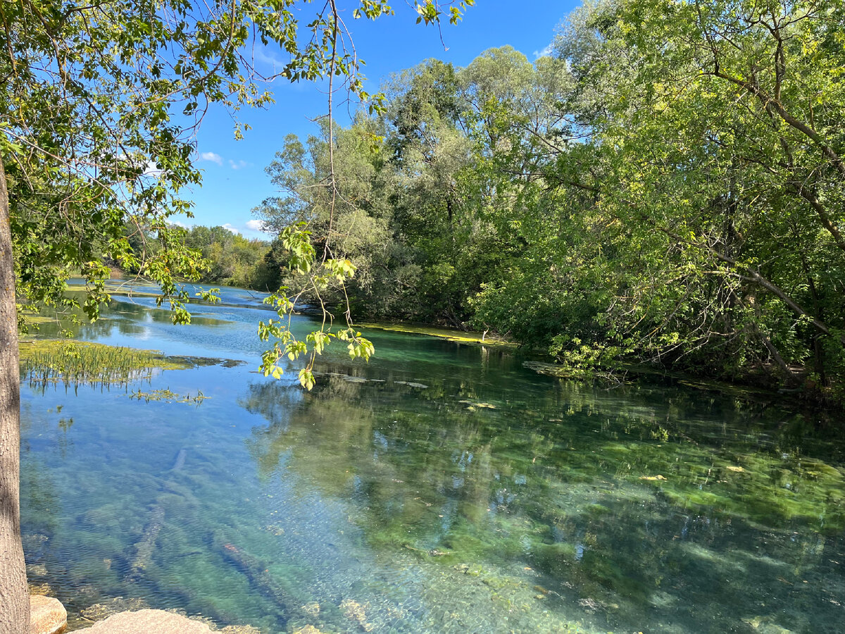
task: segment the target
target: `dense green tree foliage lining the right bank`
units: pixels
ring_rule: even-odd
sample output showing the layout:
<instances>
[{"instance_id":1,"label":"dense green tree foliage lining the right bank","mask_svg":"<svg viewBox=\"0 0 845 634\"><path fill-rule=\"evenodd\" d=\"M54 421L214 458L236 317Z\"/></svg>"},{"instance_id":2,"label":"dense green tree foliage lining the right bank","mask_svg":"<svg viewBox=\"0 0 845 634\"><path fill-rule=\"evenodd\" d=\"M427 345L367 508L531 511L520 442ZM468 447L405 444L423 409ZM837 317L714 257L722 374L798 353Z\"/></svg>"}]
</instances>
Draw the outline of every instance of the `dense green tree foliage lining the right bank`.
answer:
<instances>
[{"instance_id":1,"label":"dense green tree foliage lining the right bank","mask_svg":"<svg viewBox=\"0 0 845 634\"><path fill-rule=\"evenodd\" d=\"M318 250L330 227L354 314L836 396L842 18L832 0L588 3L552 56L428 60L378 117L288 138L257 213L308 223ZM324 211L330 158L349 234Z\"/></svg>"}]
</instances>

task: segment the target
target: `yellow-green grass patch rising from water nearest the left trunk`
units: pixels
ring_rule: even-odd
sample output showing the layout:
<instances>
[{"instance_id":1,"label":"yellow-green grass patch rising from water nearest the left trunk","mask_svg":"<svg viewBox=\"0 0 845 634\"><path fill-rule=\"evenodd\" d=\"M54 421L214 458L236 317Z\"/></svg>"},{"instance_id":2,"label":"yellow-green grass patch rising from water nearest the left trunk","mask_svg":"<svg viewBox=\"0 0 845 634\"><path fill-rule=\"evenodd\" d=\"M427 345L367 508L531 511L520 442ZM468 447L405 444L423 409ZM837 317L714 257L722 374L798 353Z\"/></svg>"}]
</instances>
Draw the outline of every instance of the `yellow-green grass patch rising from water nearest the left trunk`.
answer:
<instances>
[{"instance_id":1,"label":"yellow-green grass patch rising from water nearest the left trunk","mask_svg":"<svg viewBox=\"0 0 845 634\"><path fill-rule=\"evenodd\" d=\"M149 381L156 371L191 364L154 350L100 343L44 340L20 342L20 369L30 385L128 385Z\"/></svg>"}]
</instances>

